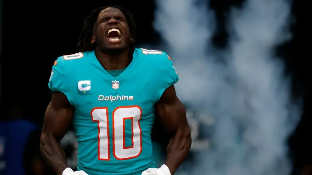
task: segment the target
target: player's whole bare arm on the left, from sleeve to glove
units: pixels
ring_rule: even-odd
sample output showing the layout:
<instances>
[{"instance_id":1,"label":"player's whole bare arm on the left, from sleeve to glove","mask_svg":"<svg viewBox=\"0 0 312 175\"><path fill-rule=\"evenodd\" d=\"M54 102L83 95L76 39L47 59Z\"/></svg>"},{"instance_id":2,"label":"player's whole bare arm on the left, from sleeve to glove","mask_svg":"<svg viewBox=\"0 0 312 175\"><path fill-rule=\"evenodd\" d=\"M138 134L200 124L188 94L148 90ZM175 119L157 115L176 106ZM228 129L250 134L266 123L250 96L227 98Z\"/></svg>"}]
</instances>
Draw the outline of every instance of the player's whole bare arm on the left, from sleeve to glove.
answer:
<instances>
[{"instance_id":1,"label":"player's whole bare arm on the left, from sleeve to glove","mask_svg":"<svg viewBox=\"0 0 312 175\"><path fill-rule=\"evenodd\" d=\"M71 124L73 111L74 107L63 93L53 92L52 100L46 108L40 137L40 151L46 163L58 175L68 167L60 140Z\"/></svg>"}]
</instances>

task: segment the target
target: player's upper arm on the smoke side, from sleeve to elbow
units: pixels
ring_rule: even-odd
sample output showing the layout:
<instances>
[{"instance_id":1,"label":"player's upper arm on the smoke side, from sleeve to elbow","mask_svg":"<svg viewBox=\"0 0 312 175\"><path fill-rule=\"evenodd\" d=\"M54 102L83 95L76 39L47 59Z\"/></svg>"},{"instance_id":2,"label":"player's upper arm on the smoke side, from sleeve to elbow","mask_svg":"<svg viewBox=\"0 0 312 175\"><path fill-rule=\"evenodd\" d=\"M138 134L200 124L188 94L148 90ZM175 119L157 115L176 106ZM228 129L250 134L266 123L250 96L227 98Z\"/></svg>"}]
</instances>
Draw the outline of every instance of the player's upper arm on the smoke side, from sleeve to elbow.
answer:
<instances>
[{"instance_id":1,"label":"player's upper arm on the smoke side, from sleeve to elbow","mask_svg":"<svg viewBox=\"0 0 312 175\"><path fill-rule=\"evenodd\" d=\"M155 104L156 112L168 134L174 134L179 128L188 128L183 103L176 95L174 86L168 87Z\"/></svg>"}]
</instances>

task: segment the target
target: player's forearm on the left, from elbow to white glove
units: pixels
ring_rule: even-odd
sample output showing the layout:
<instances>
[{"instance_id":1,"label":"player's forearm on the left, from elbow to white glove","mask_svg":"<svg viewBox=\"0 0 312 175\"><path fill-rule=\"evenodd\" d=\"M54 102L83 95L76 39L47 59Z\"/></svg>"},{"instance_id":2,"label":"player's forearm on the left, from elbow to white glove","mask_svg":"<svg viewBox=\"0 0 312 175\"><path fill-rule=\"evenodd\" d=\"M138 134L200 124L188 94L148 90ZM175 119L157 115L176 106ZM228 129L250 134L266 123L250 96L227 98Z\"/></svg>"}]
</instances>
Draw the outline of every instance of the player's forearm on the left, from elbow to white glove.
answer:
<instances>
[{"instance_id":1,"label":"player's forearm on the left, from elbow to white glove","mask_svg":"<svg viewBox=\"0 0 312 175\"><path fill-rule=\"evenodd\" d=\"M61 144L52 135L41 134L40 151L46 163L55 171L56 174L62 175L66 169L66 156Z\"/></svg>"}]
</instances>

